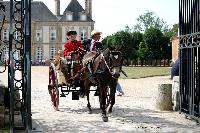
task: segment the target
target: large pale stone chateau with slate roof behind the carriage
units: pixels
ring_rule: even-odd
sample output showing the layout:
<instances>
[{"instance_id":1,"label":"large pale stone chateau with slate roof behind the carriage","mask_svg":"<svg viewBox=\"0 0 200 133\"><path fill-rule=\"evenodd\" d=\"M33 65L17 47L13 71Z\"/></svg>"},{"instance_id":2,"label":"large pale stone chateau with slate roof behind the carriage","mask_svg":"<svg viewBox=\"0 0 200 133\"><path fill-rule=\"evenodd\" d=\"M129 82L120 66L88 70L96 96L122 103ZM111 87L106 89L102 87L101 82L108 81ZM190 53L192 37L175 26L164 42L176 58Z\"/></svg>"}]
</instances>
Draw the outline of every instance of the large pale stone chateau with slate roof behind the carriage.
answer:
<instances>
[{"instance_id":1,"label":"large pale stone chateau with slate roof behind the carriage","mask_svg":"<svg viewBox=\"0 0 200 133\"><path fill-rule=\"evenodd\" d=\"M67 31L76 30L77 39L84 40L90 38L90 33L94 29L92 0L85 0L85 8L77 0L71 0L62 14L60 13L60 0L49 0L49 2L55 2L55 14L41 1L32 0L31 3L31 59L32 63L36 64L52 60L55 51L63 49L68 39ZM9 21L10 2L0 0L0 3L6 6L6 19ZM1 14L0 18L2 18ZM1 33L1 40L8 39L9 23L6 23ZM7 58L6 49L4 49L4 54ZM18 56L17 54L16 52L14 56Z\"/></svg>"}]
</instances>

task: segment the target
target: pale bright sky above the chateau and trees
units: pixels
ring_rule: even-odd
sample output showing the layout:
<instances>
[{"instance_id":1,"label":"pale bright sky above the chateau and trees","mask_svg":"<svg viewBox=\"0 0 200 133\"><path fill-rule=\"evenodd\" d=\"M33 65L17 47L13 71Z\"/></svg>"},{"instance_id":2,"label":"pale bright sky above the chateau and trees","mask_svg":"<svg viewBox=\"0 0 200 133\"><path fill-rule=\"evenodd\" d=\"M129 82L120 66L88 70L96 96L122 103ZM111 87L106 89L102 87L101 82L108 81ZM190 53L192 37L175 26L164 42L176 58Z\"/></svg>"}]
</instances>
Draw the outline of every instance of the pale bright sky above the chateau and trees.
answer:
<instances>
[{"instance_id":1,"label":"pale bright sky above the chateau and trees","mask_svg":"<svg viewBox=\"0 0 200 133\"><path fill-rule=\"evenodd\" d=\"M55 0L39 1L43 1L55 13ZM70 1L60 0L61 14ZM85 8L85 0L78 1ZM95 29L101 31L102 36L124 30L126 25L132 28L137 23L136 19L147 10L154 12L172 27L179 20L178 2L179 0L92 0L92 19L95 21Z\"/></svg>"}]
</instances>

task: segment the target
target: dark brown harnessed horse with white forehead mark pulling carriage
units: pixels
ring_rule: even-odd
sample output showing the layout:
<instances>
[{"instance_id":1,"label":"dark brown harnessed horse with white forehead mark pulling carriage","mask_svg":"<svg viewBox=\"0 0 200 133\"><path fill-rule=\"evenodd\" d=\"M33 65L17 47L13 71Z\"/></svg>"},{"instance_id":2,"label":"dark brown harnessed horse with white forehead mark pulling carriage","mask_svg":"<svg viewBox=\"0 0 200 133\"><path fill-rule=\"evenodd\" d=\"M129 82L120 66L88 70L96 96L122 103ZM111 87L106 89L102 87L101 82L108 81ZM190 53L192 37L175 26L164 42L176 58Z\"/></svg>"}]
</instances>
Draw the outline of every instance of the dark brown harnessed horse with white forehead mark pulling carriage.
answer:
<instances>
[{"instance_id":1,"label":"dark brown harnessed horse with white forehead mark pulling carriage","mask_svg":"<svg viewBox=\"0 0 200 133\"><path fill-rule=\"evenodd\" d=\"M85 93L87 96L87 107L92 112L90 101L89 101L89 90L92 84L96 84L99 88L99 102L100 109L102 113L102 119L104 122L108 121L108 113L112 112L112 107L115 104L115 92L118 78L120 72L122 71L123 56L121 51L115 47L109 46L104 51L100 52L98 57L94 60L93 69L94 69L94 79L96 83L93 83L93 79L89 78L88 67L85 67L86 78L84 80Z\"/></svg>"}]
</instances>

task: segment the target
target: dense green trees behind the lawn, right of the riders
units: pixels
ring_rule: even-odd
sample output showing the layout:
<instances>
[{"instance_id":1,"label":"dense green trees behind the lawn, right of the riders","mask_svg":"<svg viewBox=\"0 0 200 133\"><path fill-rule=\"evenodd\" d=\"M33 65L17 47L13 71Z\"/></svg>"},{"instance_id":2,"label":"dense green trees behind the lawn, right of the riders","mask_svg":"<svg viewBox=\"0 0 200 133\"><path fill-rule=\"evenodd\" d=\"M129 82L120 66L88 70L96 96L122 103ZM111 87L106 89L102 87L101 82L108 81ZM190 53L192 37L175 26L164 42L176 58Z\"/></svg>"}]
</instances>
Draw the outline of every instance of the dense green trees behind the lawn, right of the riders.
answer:
<instances>
[{"instance_id":1,"label":"dense green trees behind the lawn, right of the riders","mask_svg":"<svg viewBox=\"0 0 200 133\"><path fill-rule=\"evenodd\" d=\"M171 29L153 12L147 11L140 15L137 24L131 29L128 25L124 30L103 39L104 47L109 44L122 49L125 60L140 59L171 59L170 39L178 32L178 24Z\"/></svg>"}]
</instances>

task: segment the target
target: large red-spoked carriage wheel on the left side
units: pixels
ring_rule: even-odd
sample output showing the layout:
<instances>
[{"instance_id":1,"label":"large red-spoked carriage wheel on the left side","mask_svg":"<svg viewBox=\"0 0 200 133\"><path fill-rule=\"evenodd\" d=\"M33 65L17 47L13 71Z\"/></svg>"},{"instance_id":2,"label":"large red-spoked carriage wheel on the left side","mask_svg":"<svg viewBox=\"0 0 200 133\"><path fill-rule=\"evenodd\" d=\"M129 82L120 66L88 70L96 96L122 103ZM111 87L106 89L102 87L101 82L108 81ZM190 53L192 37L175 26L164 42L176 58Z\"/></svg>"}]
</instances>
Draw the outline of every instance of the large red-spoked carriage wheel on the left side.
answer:
<instances>
[{"instance_id":1,"label":"large red-spoked carriage wheel on the left side","mask_svg":"<svg viewBox=\"0 0 200 133\"><path fill-rule=\"evenodd\" d=\"M48 91L51 96L52 105L55 110L58 111L58 105L59 105L59 90L58 90L58 82L57 82L57 76L56 76L56 70L53 63L49 66L49 85L48 85Z\"/></svg>"}]
</instances>

